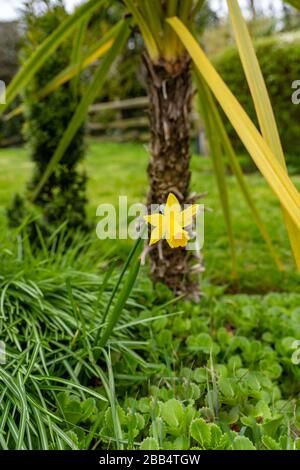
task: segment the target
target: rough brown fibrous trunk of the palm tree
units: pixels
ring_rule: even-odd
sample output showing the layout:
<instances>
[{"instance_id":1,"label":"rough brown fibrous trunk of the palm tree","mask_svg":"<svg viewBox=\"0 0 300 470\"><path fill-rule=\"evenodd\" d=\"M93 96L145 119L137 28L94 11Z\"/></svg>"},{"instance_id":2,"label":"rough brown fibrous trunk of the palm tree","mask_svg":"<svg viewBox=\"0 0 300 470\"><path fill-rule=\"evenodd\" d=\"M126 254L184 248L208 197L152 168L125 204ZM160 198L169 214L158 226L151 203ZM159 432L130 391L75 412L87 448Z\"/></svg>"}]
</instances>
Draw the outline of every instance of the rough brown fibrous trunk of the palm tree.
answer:
<instances>
[{"instance_id":1,"label":"rough brown fibrous trunk of the palm tree","mask_svg":"<svg viewBox=\"0 0 300 470\"><path fill-rule=\"evenodd\" d=\"M153 64L145 56L150 99L150 190L148 206L163 204L173 192L181 204L189 199L190 113L193 96L188 58L176 64ZM199 297L199 274L192 274L193 253L171 249L163 241L150 251L154 281L177 294Z\"/></svg>"}]
</instances>

